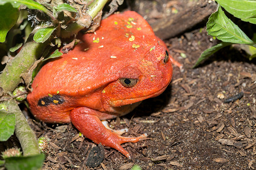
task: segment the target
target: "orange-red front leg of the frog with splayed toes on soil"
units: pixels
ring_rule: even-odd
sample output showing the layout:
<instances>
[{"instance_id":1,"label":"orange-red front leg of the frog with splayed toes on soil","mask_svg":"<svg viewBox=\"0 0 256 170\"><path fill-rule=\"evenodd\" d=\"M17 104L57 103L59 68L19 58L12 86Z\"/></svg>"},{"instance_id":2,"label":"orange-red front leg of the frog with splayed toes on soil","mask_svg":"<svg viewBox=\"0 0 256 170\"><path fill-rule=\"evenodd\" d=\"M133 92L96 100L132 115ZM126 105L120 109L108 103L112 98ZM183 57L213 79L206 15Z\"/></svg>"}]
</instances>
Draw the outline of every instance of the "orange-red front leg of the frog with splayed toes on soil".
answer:
<instances>
[{"instance_id":1,"label":"orange-red front leg of the frog with splayed toes on soil","mask_svg":"<svg viewBox=\"0 0 256 170\"><path fill-rule=\"evenodd\" d=\"M95 143L115 148L127 158L130 154L121 146L126 142L138 142L147 137L143 134L139 137L122 137L113 130L107 129L101 122L102 113L89 108L75 108L70 113L71 122L76 128Z\"/></svg>"}]
</instances>

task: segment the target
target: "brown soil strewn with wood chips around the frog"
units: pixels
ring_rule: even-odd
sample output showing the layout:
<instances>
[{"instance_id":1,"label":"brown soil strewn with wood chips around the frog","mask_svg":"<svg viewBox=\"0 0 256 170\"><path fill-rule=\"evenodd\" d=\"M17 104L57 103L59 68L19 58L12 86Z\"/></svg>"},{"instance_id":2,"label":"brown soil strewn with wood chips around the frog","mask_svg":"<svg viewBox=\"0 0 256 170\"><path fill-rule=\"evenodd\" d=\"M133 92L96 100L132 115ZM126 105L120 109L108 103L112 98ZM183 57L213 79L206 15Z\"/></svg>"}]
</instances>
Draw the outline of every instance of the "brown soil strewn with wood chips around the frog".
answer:
<instances>
[{"instance_id":1,"label":"brown soil strewn with wood chips around the frog","mask_svg":"<svg viewBox=\"0 0 256 170\"><path fill-rule=\"evenodd\" d=\"M128 8L154 22L191 4L138 1L137 8ZM43 169L130 169L135 164L142 169L256 168L255 59L249 61L242 50L228 47L192 69L201 52L217 44L204 26L165 42L183 69L174 66L172 82L162 95L143 101L124 117L109 120L114 129L129 128L124 136L149 134L141 142L122 145L132 159L113 148L97 147L80 137L72 124L46 125L28 118L37 137L49 139ZM224 103L240 92L240 100ZM105 156L101 164L89 168L86 162L92 159L88 158L92 146Z\"/></svg>"}]
</instances>

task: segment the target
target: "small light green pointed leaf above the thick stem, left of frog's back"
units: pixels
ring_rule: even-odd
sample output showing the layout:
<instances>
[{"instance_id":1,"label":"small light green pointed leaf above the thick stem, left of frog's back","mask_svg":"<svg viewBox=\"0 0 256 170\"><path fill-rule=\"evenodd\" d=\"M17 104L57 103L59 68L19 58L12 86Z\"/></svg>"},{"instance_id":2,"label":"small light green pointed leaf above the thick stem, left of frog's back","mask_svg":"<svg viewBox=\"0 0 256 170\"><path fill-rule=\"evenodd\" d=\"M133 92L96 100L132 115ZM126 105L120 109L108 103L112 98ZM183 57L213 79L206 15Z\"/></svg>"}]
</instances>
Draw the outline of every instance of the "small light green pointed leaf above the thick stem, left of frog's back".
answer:
<instances>
[{"instance_id":1,"label":"small light green pointed leaf above the thick stem, left of frog's back","mask_svg":"<svg viewBox=\"0 0 256 170\"><path fill-rule=\"evenodd\" d=\"M41 28L39 29L33 39L36 42L44 42L46 40L48 40L49 36L51 36L52 32L55 30L55 27L47 27L47 28Z\"/></svg>"}]
</instances>

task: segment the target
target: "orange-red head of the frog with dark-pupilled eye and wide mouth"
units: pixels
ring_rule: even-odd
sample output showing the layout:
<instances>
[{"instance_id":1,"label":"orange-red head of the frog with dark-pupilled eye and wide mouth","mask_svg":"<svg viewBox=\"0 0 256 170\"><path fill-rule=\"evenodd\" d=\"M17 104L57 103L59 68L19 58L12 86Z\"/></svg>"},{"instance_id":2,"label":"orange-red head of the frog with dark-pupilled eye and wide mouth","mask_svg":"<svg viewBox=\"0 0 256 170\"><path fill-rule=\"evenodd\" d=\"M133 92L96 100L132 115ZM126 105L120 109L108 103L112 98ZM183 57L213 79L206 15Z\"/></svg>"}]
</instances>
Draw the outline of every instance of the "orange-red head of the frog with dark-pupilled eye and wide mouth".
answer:
<instances>
[{"instance_id":1,"label":"orange-red head of the frog with dark-pupilled eye and wide mouth","mask_svg":"<svg viewBox=\"0 0 256 170\"><path fill-rule=\"evenodd\" d=\"M102 91L106 111L126 114L142 100L162 94L172 78L169 55L163 46L152 46L143 57L122 67L118 79Z\"/></svg>"}]
</instances>

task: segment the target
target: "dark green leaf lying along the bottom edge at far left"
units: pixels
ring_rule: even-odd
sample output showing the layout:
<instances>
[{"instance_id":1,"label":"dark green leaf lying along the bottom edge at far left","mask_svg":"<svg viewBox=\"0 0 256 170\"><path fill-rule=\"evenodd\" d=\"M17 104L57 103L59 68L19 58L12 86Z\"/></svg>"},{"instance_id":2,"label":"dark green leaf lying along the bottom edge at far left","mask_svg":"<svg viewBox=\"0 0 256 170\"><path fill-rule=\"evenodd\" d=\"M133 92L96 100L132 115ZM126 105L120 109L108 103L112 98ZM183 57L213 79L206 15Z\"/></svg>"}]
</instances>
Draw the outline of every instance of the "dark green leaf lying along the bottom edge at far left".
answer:
<instances>
[{"instance_id":1,"label":"dark green leaf lying along the bottom edge at far left","mask_svg":"<svg viewBox=\"0 0 256 170\"><path fill-rule=\"evenodd\" d=\"M5 167L8 170L31 169L38 170L42 168L44 162L44 154L10 157L5 159Z\"/></svg>"}]
</instances>

